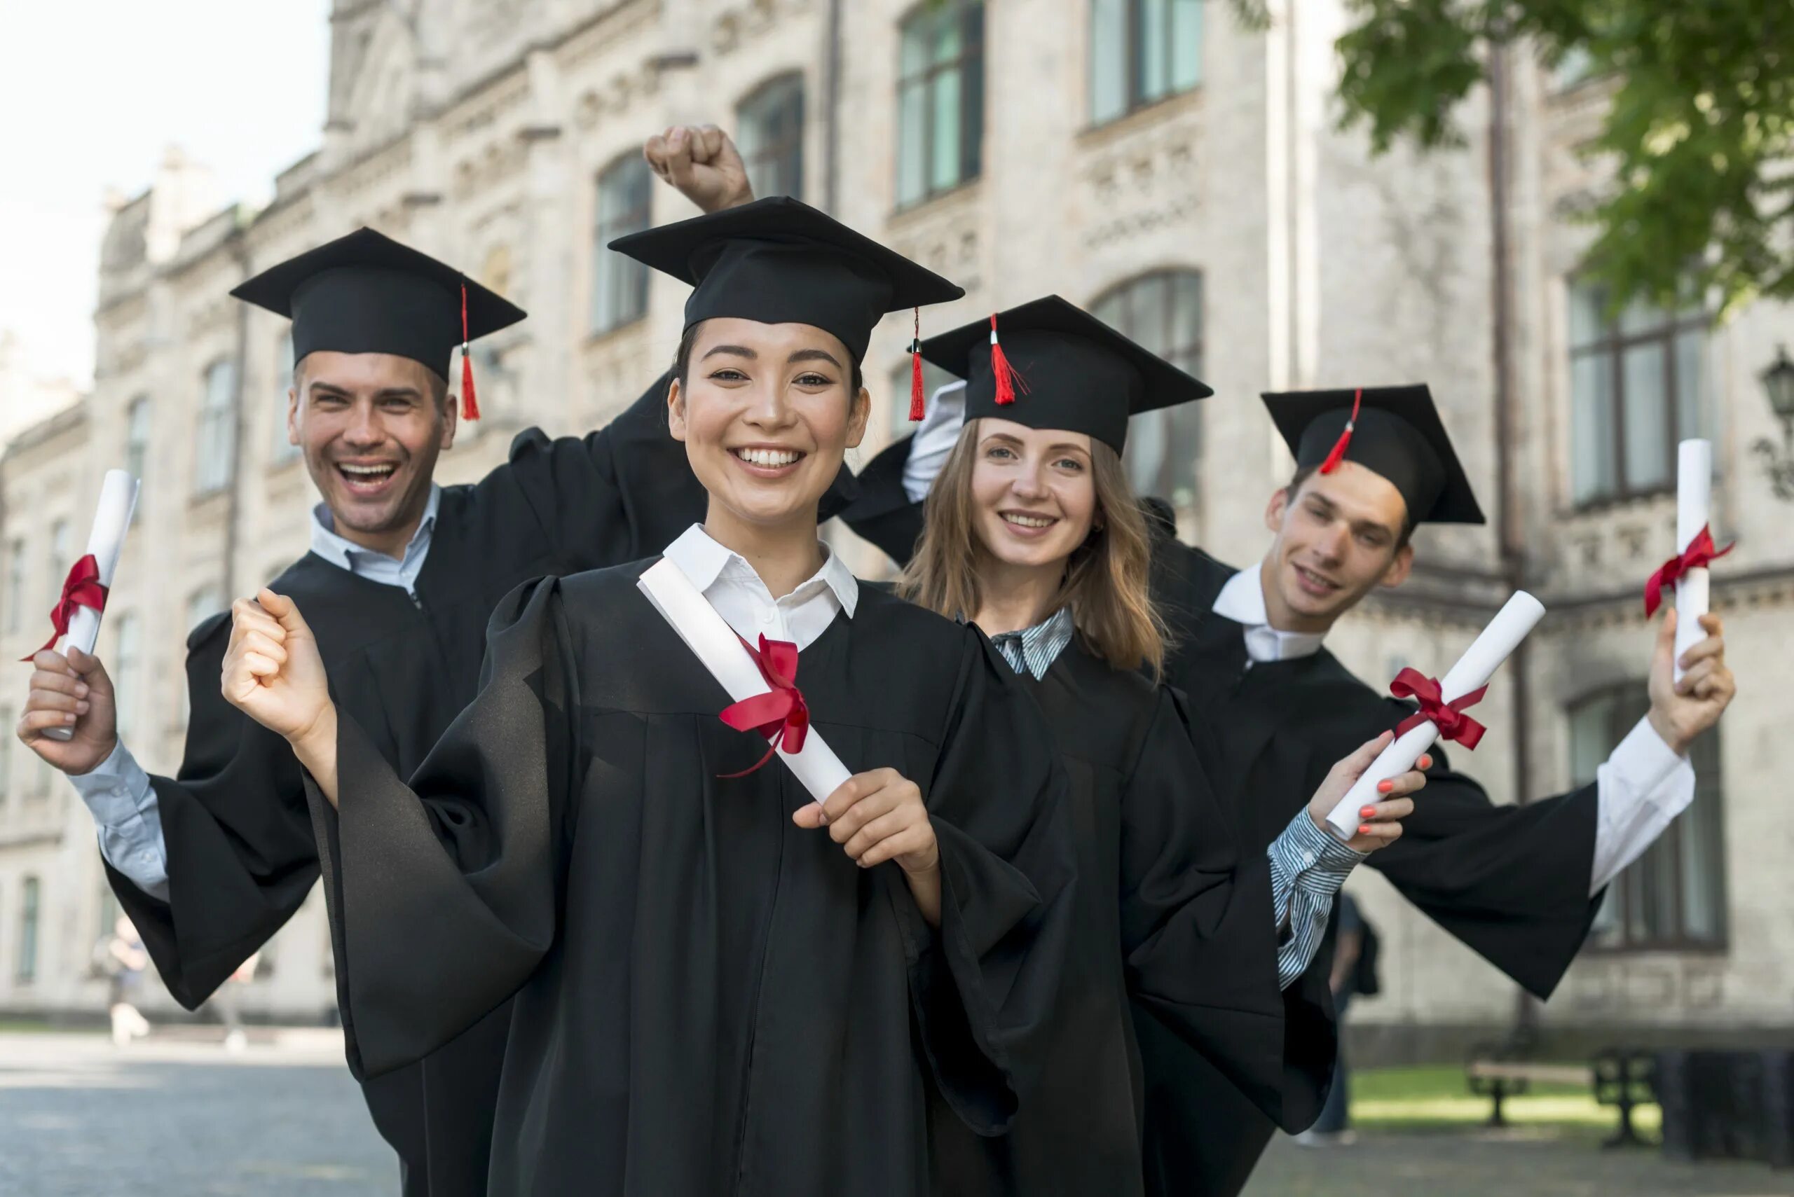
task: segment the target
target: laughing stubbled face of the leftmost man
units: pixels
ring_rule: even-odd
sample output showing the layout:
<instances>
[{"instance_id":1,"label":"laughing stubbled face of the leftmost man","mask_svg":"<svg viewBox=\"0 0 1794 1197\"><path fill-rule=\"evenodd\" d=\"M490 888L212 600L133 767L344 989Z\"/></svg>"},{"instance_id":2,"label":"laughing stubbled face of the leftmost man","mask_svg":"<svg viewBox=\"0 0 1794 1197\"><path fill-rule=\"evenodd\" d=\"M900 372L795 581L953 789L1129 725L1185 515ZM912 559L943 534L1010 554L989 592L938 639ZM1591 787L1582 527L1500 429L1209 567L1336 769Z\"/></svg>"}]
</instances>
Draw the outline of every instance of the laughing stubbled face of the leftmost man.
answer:
<instances>
[{"instance_id":1,"label":"laughing stubbled face of the leftmost man","mask_svg":"<svg viewBox=\"0 0 1794 1197\"><path fill-rule=\"evenodd\" d=\"M391 353L305 355L287 392L287 439L339 536L402 548L429 504L436 457L454 444L447 383Z\"/></svg>"}]
</instances>

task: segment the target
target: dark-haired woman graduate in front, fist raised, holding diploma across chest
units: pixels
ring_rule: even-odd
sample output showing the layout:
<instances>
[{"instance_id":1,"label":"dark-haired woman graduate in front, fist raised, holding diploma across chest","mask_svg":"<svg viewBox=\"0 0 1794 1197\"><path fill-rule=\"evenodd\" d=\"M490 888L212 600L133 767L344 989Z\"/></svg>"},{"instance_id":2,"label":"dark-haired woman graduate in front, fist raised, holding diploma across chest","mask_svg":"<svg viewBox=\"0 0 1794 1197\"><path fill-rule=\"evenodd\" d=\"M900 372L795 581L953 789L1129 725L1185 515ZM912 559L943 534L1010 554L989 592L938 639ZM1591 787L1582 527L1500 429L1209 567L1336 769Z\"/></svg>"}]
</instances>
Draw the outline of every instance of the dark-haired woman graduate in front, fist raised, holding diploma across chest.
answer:
<instances>
[{"instance_id":1,"label":"dark-haired woman graduate in front, fist raised, holding diploma across chest","mask_svg":"<svg viewBox=\"0 0 1794 1197\"><path fill-rule=\"evenodd\" d=\"M667 410L703 523L513 591L409 779L278 595L224 693L307 769L366 1068L515 995L492 1193L922 1193L929 1102L997 1134L1039 1073L1073 903L1014 670L816 538L872 326L960 288L791 199L614 247L694 285Z\"/></svg>"}]
</instances>

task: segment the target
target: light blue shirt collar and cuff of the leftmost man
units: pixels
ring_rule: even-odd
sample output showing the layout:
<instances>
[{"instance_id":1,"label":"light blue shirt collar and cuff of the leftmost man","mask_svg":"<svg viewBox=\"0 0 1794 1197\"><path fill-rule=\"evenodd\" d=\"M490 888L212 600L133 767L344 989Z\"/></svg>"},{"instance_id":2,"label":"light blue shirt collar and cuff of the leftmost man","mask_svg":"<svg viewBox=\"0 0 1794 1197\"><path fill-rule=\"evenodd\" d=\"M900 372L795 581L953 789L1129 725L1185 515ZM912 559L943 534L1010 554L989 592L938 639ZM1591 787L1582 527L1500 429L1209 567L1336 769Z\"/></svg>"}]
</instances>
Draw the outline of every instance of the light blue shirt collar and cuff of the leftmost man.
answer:
<instances>
[{"instance_id":1,"label":"light blue shirt collar and cuff of the leftmost man","mask_svg":"<svg viewBox=\"0 0 1794 1197\"><path fill-rule=\"evenodd\" d=\"M405 543L405 552L389 557L337 536L330 507L312 507L312 552L357 577L382 586L402 586L416 593L418 573L431 554L431 536L436 532L436 511L443 489L431 486L418 530ZM161 901L169 900L169 844L161 835L161 812L156 806L156 787L149 774L131 756L124 740L113 747L91 772L70 776L81 801L93 814L99 828L100 857L122 873L133 885Z\"/></svg>"}]
</instances>

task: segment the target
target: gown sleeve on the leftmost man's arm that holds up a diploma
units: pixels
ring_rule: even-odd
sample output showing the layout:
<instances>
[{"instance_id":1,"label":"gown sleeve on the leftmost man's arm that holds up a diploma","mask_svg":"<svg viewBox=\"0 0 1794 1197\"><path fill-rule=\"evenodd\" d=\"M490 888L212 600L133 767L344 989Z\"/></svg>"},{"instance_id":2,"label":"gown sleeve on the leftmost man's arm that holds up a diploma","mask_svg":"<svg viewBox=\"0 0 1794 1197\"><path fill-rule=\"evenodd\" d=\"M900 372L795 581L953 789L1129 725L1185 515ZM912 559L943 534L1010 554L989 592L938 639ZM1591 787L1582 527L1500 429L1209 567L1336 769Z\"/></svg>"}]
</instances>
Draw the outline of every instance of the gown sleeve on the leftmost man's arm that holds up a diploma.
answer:
<instances>
[{"instance_id":1,"label":"gown sleeve on the leftmost man's arm that holds up a diploma","mask_svg":"<svg viewBox=\"0 0 1794 1197\"><path fill-rule=\"evenodd\" d=\"M192 713L174 778L151 776L167 848L169 898L106 865L174 1000L197 1009L280 930L318 880L318 849L292 749L219 692L230 616L194 629Z\"/></svg>"}]
</instances>

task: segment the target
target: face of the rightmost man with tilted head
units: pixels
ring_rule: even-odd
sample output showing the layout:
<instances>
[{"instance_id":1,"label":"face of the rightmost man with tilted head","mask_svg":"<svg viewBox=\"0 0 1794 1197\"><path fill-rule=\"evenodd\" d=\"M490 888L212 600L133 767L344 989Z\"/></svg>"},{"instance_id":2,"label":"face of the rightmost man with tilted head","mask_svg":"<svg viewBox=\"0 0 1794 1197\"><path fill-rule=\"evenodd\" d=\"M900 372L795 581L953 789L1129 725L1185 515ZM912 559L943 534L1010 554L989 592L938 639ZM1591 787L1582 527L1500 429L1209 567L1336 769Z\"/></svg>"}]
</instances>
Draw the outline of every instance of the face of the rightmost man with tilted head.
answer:
<instances>
[{"instance_id":1,"label":"face of the rightmost man with tilted head","mask_svg":"<svg viewBox=\"0 0 1794 1197\"><path fill-rule=\"evenodd\" d=\"M1405 582L1414 566L1406 516L1401 491L1351 461L1272 495L1265 523L1277 538L1263 568L1272 627L1324 633L1378 586Z\"/></svg>"}]
</instances>

